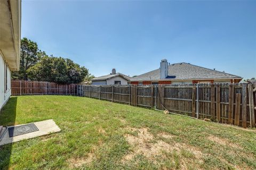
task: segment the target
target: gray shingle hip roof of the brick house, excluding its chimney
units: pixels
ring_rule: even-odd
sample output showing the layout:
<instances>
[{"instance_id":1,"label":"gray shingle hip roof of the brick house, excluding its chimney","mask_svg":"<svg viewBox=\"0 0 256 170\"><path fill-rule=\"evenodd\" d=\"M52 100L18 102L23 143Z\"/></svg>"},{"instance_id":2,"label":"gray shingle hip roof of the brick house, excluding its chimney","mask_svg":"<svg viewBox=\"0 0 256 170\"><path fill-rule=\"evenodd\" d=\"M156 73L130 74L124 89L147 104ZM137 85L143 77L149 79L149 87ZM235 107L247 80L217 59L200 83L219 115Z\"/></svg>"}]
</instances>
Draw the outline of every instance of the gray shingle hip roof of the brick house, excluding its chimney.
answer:
<instances>
[{"instance_id":1,"label":"gray shingle hip roof of the brick house, excluding its chimney","mask_svg":"<svg viewBox=\"0 0 256 170\"><path fill-rule=\"evenodd\" d=\"M167 79L160 78L160 69L150 71L145 74L138 75L131 81L143 80L200 80L200 79L242 79L237 75L232 75L216 70L206 69L201 66L192 65L189 63L175 63L168 66Z\"/></svg>"}]
</instances>

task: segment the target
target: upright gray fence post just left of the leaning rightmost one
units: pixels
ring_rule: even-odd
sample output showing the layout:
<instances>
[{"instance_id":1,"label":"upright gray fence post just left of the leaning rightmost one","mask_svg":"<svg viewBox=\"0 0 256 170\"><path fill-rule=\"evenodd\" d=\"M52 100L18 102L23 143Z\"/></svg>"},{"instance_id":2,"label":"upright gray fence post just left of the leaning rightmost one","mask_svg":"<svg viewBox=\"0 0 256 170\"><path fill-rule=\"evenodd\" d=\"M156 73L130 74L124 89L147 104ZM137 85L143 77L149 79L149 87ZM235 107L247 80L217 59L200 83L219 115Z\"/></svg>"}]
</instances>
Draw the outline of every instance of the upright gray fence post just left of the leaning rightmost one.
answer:
<instances>
[{"instance_id":1,"label":"upright gray fence post just left of the leaning rightmost one","mask_svg":"<svg viewBox=\"0 0 256 170\"><path fill-rule=\"evenodd\" d=\"M247 115L246 115L246 104L247 104L247 95L246 95L246 87L247 84L246 83L243 83L243 86L242 86L242 127L243 128L246 128L247 126Z\"/></svg>"}]
</instances>

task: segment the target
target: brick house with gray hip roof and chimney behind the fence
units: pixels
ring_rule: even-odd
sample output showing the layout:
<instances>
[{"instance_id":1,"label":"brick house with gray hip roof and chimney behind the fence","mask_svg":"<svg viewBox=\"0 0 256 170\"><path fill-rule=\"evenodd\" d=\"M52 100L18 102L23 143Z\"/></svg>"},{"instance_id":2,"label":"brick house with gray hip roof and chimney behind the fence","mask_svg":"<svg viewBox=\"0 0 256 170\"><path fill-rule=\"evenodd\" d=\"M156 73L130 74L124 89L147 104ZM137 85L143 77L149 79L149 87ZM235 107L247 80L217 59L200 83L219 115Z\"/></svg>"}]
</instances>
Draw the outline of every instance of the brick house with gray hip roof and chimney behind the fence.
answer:
<instances>
[{"instance_id":1,"label":"brick house with gray hip roof and chimney behind the fence","mask_svg":"<svg viewBox=\"0 0 256 170\"><path fill-rule=\"evenodd\" d=\"M189 63L168 64L162 60L160 68L131 79L131 84L190 84L190 83L238 83L242 78L206 69Z\"/></svg>"}]
</instances>

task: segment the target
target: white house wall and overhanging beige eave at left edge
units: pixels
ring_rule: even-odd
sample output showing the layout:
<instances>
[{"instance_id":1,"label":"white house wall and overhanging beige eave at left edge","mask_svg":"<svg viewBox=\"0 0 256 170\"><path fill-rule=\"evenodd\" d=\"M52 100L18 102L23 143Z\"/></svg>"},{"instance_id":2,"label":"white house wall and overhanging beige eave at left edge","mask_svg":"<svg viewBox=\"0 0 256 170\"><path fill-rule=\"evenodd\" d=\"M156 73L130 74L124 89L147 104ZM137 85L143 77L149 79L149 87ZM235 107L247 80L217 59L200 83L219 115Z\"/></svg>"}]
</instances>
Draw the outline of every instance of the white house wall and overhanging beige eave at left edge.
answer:
<instances>
[{"instance_id":1,"label":"white house wall and overhanging beige eave at left edge","mask_svg":"<svg viewBox=\"0 0 256 170\"><path fill-rule=\"evenodd\" d=\"M11 71L20 67L21 1L0 1L0 109L11 96Z\"/></svg>"}]
</instances>

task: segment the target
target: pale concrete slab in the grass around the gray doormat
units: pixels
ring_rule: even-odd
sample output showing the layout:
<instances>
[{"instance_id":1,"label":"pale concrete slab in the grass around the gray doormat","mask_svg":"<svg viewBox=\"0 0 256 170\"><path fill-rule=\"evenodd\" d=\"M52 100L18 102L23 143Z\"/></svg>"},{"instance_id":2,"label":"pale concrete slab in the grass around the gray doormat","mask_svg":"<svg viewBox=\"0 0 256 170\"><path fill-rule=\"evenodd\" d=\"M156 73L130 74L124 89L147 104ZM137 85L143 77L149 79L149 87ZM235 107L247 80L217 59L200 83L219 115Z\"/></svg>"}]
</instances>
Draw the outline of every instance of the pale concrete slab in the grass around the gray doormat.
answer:
<instances>
[{"instance_id":1,"label":"pale concrete slab in the grass around the gray doormat","mask_svg":"<svg viewBox=\"0 0 256 170\"><path fill-rule=\"evenodd\" d=\"M31 138L35 138L35 137L40 137L42 135L61 131L59 126L57 126L53 120L34 122L34 124L37 126L39 131L22 134L22 135L18 135L18 136L11 137L11 138L9 137L9 132L7 131L5 133L2 141L0 141L0 146L6 145L8 143L18 142L18 141L21 141L24 139L31 139ZM13 127L13 126L9 126L9 128L11 128L11 127Z\"/></svg>"}]
</instances>

